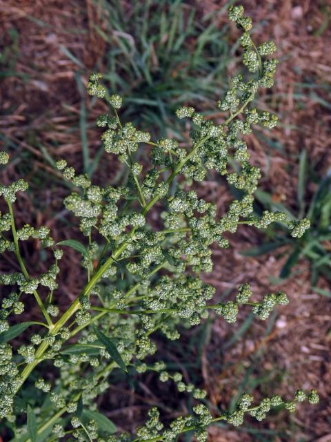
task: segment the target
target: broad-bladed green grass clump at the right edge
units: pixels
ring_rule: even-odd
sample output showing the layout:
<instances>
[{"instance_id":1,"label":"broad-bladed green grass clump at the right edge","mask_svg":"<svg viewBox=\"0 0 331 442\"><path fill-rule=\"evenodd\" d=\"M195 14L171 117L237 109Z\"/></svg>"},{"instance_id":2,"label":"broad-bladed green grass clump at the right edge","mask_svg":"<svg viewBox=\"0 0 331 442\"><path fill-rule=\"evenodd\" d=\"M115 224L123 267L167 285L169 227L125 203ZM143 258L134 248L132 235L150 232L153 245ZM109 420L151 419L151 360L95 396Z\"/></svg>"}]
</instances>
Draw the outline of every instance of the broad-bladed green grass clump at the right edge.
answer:
<instances>
[{"instance_id":1,"label":"broad-bladed green grass clump at the right edge","mask_svg":"<svg viewBox=\"0 0 331 442\"><path fill-rule=\"evenodd\" d=\"M308 180L309 177L309 180ZM308 193L305 184L315 186L310 201L305 202L304 195ZM328 173L320 176L317 171L308 165L308 157L305 151L299 156L299 176L297 186L297 211L288 209L280 202L274 202L272 196L264 191L257 191L256 213L268 210L281 210L286 212L288 219L295 220L304 216L310 222L310 229L300 236L299 240L288 234L287 226L281 222L267 228L265 240L261 246L252 247L243 253L246 256L259 256L286 246L282 255L287 256L279 273L279 278L285 279L292 276L296 265L300 260L305 260L310 269L310 282L312 288L320 294L331 296L330 292L316 287L319 278L331 280L330 265L331 255L329 250L330 218L331 218L331 178ZM306 199L308 200L308 199ZM295 224L295 221L294 221Z\"/></svg>"}]
</instances>

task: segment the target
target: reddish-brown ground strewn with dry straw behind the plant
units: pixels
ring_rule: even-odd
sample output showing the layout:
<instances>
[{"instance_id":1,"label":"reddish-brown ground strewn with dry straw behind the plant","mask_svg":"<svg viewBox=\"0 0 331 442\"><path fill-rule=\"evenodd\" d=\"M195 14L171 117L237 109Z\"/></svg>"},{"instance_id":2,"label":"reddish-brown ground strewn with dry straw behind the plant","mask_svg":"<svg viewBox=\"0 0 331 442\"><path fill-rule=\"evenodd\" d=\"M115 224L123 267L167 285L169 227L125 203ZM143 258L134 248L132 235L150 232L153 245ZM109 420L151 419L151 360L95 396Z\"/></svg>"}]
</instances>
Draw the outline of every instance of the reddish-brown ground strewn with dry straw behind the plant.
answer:
<instances>
[{"instance_id":1,"label":"reddish-brown ground strewn with dry straw behind the plant","mask_svg":"<svg viewBox=\"0 0 331 442\"><path fill-rule=\"evenodd\" d=\"M0 84L3 109L10 110L0 117L0 128L7 140L17 146L13 166L20 173L28 171L28 181L35 176L45 176L43 173L54 177L57 175L44 160L39 146L45 146L52 157L66 157L71 164L81 164L81 97L75 79L77 65L63 56L61 45L86 66L81 75L84 84L89 68L94 66L98 57L101 58L104 50L103 40L92 26L93 22L101 23L102 26L100 10L93 7L92 1L71 0L63 3L37 0L32 3L0 1L0 23L5 31L1 37L3 45L10 44L6 40L7 31L13 26L19 29L19 54L14 68L19 75L6 77ZM272 192L276 200L281 200L295 210L297 164L301 150L307 150L310 162L315 164L321 176L330 167L328 151L331 117L328 113L330 103L327 102L328 99L330 101L331 52L328 49L331 31L328 26L325 27L325 16L328 14L330 17L330 7L327 1L317 0L252 0L242 3L247 6L253 21L262 23L257 27L256 38L263 40L272 35L282 60L277 85L272 92L272 107L279 114L282 125L272 132L272 137L275 142L279 142L283 151L268 148L257 135L248 137L250 151L254 162L264 172L263 188ZM219 10L225 1L203 0L197 4L203 12L210 12ZM36 22L31 17L40 21ZM219 20L221 26L225 23L225 15ZM43 23L48 26L43 26ZM68 32L77 29L86 32ZM98 48L98 52L93 48ZM231 65L229 71L232 70L234 66ZM298 83L315 85L316 88L302 88L300 95L297 92ZM329 89L323 89L325 84ZM68 106L64 108L63 103ZM263 104L263 99L261 104L267 106ZM101 104L89 108L89 122L93 122L100 111ZM263 133L260 130L259 134ZM270 136L268 133L265 135ZM88 138L92 151L97 151L100 146L99 131L89 128ZM33 157L32 166L24 162L27 152ZM1 180L5 184L17 173L13 166L2 174ZM116 169L111 159L105 160L97 180L109 180L109 177L114 177ZM68 190L56 185L50 188L41 186L38 189L35 184L34 191L34 201L22 197L16 204L17 218L37 225L48 224L54 239L63 239L63 231L57 229L59 225L63 229L61 223L68 216L61 205ZM314 186L310 184L307 198L313 191ZM217 201L219 207L223 207L229 200L225 187L218 182L204 183L201 195ZM33 206L37 207L37 211ZM61 217L55 215L59 211ZM270 276L279 275L284 258L272 254L261 258L244 258L239 253L242 249L260 244L263 241L261 233L241 228L231 236L230 241L232 249L214 251L214 271L205 277L217 287L219 294L233 285L248 281L257 298L270 289L284 289L291 302L279 309L268 336L263 337L267 327L265 323L254 320L248 331L228 347L224 343L230 340L234 330L239 329L248 311L241 312L241 320L234 327L226 325L219 318L215 319L208 347L203 351L203 382L210 392L211 402L215 406L228 405L248 370L251 371L251 379L268 378L267 383L261 383L254 390L257 391L257 397L273 393L290 397L297 387L316 388L321 394L319 405L312 407L303 403L294 415L288 416L281 412L261 424L252 423L252 426L277 429L285 434L276 439L271 439L267 434L264 440L331 441L330 300L310 289L309 269L305 262L297 269L299 276L290 278L283 285L272 286ZM78 269L74 256L72 253L61 264L63 274L70 274L70 278L61 285L60 294L66 295L66 299L73 299L80 288L79 273L72 271ZM39 260L37 244L31 259L32 264ZM6 262L4 266L11 264ZM68 269L71 271L66 271ZM319 284L328 287L326 281L321 280ZM143 401L153 403L148 382L145 389ZM116 398L116 394L123 395L123 391L114 390L111 394ZM119 422L121 415L126 416L126 421L130 421L132 426L138 416L142 417L146 411L143 408L141 413L140 405L141 398L131 395L128 401L123 401L123 408L110 412L109 416ZM210 441L214 442L257 440L254 434L245 431L218 427L210 429Z\"/></svg>"}]
</instances>

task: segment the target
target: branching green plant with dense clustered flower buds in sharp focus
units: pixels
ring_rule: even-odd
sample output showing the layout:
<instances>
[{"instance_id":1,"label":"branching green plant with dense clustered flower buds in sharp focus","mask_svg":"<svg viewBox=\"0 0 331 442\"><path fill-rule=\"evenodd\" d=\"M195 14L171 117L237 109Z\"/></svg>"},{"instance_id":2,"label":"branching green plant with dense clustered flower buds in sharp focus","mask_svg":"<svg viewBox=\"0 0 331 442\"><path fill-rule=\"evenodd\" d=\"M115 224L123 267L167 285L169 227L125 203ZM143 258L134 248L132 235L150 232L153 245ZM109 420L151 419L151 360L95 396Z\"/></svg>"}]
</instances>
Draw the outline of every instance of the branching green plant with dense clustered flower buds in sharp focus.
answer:
<instances>
[{"instance_id":1,"label":"branching green plant with dense clustered flower buds in sharp focus","mask_svg":"<svg viewBox=\"0 0 331 442\"><path fill-rule=\"evenodd\" d=\"M225 115L221 124L205 119L193 107L178 109L179 118L192 121L189 148L166 138L152 142L149 133L130 122L122 124L118 113L121 97L108 95L99 73L90 76L88 93L105 99L112 108L112 115L97 119L97 126L103 128L105 151L116 155L129 175L123 184L100 187L68 166L66 160L57 162L57 169L75 189L64 204L79 219L86 246L76 240L54 244L47 227L34 229L25 224L17 229L12 205L17 192L26 191L28 184L18 180L0 186L0 195L8 204L8 213L0 213L0 251L14 253L20 267L20 271L0 274L0 284L8 291L2 297L0 313L0 416L6 417L15 440L22 436L22 440L32 441L38 435L40 441L172 442L191 431L198 441L206 441L206 427L215 421L241 425L247 413L261 421L272 407L294 412L305 398L318 402L314 390L308 394L298 390L292 401L280 396L264 398L254 406L252 396L244 394L234 411L213 417L205 405L205 390L183 382L182 374L171 372L163 361L148 363L150 358L146 359L157 352L154 332L174 340L183 325L197 325L215 313L234 323L239 307L247 305L265 320L277 305L288 303L283 292L266 294L263 300L253 302L248 283L238 287L232 300L211 302L215 289L203 282L201 272L212 271L211 244L229 247L224 233L234 233L239 224L265 229L272 222L281 222L288 225L293 237L300 237L309 227L306 219L288 222L285 213L254 214L254 191L261 171L251 164L242 136L251 133L254 124L268 128L277 124L276 115L259 111L253 104L259 88L270 88L274 82L277 59L263 57L272 55L276 47L272 41L254 45L249 33L252 20L243 15L241 6L230 7L229 17L242 31L243 64L253 78L232 77L230 89L217 103ZM137 160L142 147L150 151L150 166ZM1 152L0 164L8 161L8 154ZM223 175L240 195L221 218L215 204L199 198L192 189L211 169ZM175 180L179 175L181 179ZM163 206L159 229L148 220L154 204ZM52 253L52 265L39 276L30 276L21 256L20 242L31 239ZM60 314L58 262L66 247L81 253L87 280L80 296ZM127 283L119 284L119 280ZM10 287L14 287L12 291ZM45 291L47 296L41 296ZM30 296L37 302L42 320L10 325ZM10 341L32 326L34 331L14 350ZM25 410L21 401L16 402L17 392L39 364L53 365L56 376L34 378L30 388L38 392L39 399L28 398L28 423L21 426L15 416ZM109 435L115 431L114 425L97 411L95 399L108 390L111 374L118 368L124 372L135 369L137 376L155 372L160 382L192 394L192 413L164 428L159 411L153 407L148 421L134 436Z\"/></svg>"}]
</instances>

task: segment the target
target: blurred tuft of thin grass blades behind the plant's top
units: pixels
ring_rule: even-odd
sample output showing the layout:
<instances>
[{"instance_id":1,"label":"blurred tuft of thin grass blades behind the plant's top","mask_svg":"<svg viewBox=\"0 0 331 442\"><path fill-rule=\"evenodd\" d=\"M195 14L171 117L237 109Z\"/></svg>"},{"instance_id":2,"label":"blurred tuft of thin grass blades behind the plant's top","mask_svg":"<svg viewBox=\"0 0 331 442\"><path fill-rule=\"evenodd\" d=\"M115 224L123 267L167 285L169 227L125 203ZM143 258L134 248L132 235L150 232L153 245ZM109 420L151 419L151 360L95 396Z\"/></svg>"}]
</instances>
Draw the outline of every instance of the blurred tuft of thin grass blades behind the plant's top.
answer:
<instances>
[{"instance_id":1,"label":"blurred tuft of thin grass blades behind the plant's top","mask_svg":"<svg viewBox=\"0 0 331 442\"><path fill-rule=\"evenodd\" d=\"M210 111L228 83L231 57L217 16L183 0L103 3L106 23L95 28L107 44L103 79L123 95L123 119L183 139L178 106L199 102ZM106 26L106 29L105 29Z\"/></svg>"}]
</instances>

